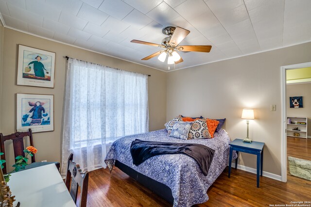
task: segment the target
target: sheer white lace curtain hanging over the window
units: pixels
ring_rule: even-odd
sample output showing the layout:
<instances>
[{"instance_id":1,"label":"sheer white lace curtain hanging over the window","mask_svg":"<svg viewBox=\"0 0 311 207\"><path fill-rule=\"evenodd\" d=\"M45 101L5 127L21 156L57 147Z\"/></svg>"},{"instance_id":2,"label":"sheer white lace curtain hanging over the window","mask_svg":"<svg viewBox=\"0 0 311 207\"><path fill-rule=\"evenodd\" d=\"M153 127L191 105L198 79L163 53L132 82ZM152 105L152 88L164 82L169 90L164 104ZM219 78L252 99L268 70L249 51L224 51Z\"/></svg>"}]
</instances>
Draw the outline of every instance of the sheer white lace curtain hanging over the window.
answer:
<instances>
[{"instance_id":1,"label":"sheer white lace curtain hanging over the window","mask_svg":"<svg viewBox=\"0 0 311 207\"><path fill-rule=\"evenodd\" d=\"M70 153L84 171L92 171L105 167L109 143L148 130L147 75L69 59L62 175Z\"/></svg>"}]
</instances>

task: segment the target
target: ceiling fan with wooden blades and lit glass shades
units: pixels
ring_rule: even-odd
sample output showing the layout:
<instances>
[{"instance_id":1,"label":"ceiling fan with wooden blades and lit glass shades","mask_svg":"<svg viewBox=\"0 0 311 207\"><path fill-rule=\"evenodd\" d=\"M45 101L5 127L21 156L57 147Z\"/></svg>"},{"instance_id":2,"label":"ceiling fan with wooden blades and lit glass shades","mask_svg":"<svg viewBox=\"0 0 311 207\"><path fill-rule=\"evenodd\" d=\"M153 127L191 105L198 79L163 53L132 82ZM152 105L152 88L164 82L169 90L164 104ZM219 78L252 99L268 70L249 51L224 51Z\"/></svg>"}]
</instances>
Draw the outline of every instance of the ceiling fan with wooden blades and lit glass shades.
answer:
<instances>
[{"instance_id":1,"label":"ceiling fan with wooden blades and lit glass shades","mask_svg":"<svg viewBox=\"0 0 311 207\"><path fill-rule=\"evenodd\" d=\"M140 40L132 40L133 43L143 44L143 45L151 45L155 47L163 48L158 52L155 52L141 60L149 60L157 55L159 55L158 60L164 62L166 57L168 56L168 64L178 64L183 62L184 60L180 57L177 51L193 51L193 52L209 52L212 48L210 45L201 45L201 46L179 46L179 43L185 39L185 37L190 33L189 30L183 29L181 27L166 27L162 30L164 34L169 35L162 39L162 44L155 44L150 42L144 42Z\"/></svg>"}]
</instances>

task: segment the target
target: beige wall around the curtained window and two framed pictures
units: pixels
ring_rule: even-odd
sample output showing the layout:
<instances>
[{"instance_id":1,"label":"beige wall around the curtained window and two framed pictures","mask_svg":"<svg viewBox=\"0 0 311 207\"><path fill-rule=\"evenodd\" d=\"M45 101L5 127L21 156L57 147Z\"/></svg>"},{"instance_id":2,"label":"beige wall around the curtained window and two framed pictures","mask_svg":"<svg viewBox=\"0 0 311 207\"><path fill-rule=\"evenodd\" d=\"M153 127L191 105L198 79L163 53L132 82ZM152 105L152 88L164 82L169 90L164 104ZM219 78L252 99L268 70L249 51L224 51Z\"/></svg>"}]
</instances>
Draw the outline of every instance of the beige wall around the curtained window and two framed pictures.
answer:
<instances>
[{"instance_id":1,"label":"beige wall around the curtained window and two framed pictures","mask_svg":"<svg viewBox=\"0 0 311 207\"><path fill-rule=\"evenodd\" d=\"M41 88L31 86L18 86L17 79L17 51L18 44L56 52L55 87ZM10 134L16 131L16 94L52 94L54 95L54 131L34 133L35 147L38 148L36 160L61 160L61 123L63 114L63 98L65 87L64 56L85 60L92 63L103 64L127 71L150 74L148 78L149 117L150 130L163 128L166 119L166 73L139 64L108 57L80 48L56 43L25 33L4 28L3 45L3 81L2 81L2 114L1 132ZM7 152L12 154L13 145L6 146ZM10 160L12 165L14 160Z\"/></svg>"}]
</instances>

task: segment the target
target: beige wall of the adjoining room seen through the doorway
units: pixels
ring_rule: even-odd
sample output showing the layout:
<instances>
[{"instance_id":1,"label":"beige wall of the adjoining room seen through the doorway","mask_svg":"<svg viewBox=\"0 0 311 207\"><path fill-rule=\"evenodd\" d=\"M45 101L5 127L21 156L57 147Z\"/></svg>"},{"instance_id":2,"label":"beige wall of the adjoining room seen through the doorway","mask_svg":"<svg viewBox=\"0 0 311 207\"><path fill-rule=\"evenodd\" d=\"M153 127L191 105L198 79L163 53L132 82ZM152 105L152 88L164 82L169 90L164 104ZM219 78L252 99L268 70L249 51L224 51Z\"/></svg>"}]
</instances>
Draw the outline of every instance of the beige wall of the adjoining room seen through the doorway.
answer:
<instances>
[{"instance_id":1,"label":"beige wall of the adjoining room seen through the doorway","mask_svg":"<svg viewBox=\"0 0 311 207\"><path fill-rule=\"evenodd\" d=\"M303 108L290 108L290 97L303 96ZM308 136L311 136L311 83L286 86L286 110L288 116L308 117Z\"/></svg>"}]
</instances>

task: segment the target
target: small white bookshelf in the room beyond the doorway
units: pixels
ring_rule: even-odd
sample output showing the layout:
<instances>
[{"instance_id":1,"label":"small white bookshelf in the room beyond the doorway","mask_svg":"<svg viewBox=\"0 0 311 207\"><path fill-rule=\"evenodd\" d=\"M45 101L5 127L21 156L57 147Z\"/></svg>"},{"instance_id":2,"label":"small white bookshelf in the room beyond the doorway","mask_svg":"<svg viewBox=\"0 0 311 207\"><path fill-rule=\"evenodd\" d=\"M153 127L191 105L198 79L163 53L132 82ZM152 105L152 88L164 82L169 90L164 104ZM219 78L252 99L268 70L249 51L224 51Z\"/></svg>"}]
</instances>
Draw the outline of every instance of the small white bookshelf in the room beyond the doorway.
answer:
<instances>
[{"instance_id":1,"label":"small white bookshelf in the room beyond the doorway","mask_svg":"<svg viewBox=\"0 0 311 207\"><path fill-rule=\"evenodd\" d=\"M303 124L305 123L305 124ZM298 128L295 130L294 128ZM287 116L287 136L308 138L308 118L300 116ZM295 136L294 133L299 133L299 136Z\"/></svg>"}]
</instances>

